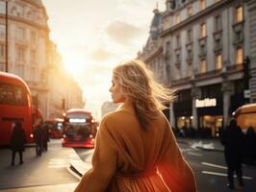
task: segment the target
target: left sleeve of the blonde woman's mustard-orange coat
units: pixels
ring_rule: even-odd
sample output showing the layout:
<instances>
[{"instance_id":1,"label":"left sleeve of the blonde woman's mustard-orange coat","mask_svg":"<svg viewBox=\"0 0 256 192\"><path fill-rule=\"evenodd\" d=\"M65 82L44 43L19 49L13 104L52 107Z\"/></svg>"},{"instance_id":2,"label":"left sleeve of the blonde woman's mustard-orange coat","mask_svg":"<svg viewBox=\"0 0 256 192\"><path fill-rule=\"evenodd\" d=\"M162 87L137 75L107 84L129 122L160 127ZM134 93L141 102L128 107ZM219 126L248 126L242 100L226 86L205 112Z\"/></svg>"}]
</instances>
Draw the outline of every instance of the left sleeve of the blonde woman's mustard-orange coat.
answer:
<instances>
[{"instance_id":1,"label":"left sleeve of the blonde woman's mustard-orange coat","mask_svg":"<svg viewBox=\"0 0 256 192\"><path fill-rule=\"evenodd\" d=\"M92 156L92 167L83 176L75 192L104 191L115 175L116 147L111 129L103 119L96 136L95 151Z\"/></svg>"}]
</instances>

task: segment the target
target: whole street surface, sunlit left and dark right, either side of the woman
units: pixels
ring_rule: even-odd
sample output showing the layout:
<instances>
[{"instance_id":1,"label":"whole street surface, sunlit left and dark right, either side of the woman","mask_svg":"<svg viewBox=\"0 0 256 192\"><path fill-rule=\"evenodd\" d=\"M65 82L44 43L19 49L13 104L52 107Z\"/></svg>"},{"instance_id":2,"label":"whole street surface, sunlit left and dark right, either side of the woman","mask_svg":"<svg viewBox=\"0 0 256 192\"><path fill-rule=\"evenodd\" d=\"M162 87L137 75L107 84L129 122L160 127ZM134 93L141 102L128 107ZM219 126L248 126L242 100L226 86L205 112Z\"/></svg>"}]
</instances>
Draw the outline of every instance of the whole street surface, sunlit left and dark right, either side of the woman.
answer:
<instances>
[{"instance_id":1,"label":"whole street surface, sunlit left and dark right, either side of the woman","mask_svg":"<svg viewBox=\"0 0 256 192\"><path fill-rule=\"evenodd\" d=\"M198 192L229 191L225 188L226 167L223 147L217 139L178 138L182 153L195 174ZM71 192L90 169L93 150L63 148L52 140L47 153L36 157L35 148L26 148L23 165L10 165L11 151L0 150L0 192ZM17 156L16 156L17 157ZM255 191L256 167L243 165L245 187Z\"/></svg>"}]
</instances>

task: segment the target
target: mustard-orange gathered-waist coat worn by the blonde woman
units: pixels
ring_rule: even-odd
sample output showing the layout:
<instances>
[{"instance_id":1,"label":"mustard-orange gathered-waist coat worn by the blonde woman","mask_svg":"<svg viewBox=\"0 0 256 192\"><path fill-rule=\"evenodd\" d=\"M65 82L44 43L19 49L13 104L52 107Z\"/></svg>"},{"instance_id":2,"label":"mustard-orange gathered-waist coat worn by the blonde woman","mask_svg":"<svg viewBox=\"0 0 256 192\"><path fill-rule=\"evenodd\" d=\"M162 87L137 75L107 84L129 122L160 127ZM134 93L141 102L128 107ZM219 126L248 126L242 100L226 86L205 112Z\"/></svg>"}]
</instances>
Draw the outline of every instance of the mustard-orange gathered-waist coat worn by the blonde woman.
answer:
<instances>
[{"instance_id":1,"label":"mustard-orange gathered-waist coat worn by the blonde woman","mask_svg":"<svg viewBox=\"0 0 256 192\"><path fill-rule=\"evenodd\" d=\"M75 192L195 192L165 115L143 131L134 108L123 104L106 115L96 136L92 167Z\"/></svg>"}]
</instances>

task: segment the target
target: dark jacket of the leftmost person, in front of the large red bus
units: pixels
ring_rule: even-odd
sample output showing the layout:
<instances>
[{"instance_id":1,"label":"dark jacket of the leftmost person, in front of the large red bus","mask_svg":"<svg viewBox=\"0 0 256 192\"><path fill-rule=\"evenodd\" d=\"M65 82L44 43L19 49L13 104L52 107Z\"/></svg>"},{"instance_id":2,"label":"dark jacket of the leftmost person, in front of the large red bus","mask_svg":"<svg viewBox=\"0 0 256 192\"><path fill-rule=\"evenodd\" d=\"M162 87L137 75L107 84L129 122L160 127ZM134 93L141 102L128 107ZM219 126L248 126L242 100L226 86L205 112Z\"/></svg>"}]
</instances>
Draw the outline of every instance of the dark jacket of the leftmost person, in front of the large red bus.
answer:
<instances>
[{"instance_id":1,"label":"dark jacket of the leftmost person, in front of the large red bus","mask_svg":"<svg viewBox=\"0 0 256 192\"><path fill-rule=\"evenodd\" d=\"M11 136L11 142L10 142L11 150L15 152L24 151L25 143L26 143L25 132L21 127L14 126L12 136Z\"/></svg>"}]
</instances>

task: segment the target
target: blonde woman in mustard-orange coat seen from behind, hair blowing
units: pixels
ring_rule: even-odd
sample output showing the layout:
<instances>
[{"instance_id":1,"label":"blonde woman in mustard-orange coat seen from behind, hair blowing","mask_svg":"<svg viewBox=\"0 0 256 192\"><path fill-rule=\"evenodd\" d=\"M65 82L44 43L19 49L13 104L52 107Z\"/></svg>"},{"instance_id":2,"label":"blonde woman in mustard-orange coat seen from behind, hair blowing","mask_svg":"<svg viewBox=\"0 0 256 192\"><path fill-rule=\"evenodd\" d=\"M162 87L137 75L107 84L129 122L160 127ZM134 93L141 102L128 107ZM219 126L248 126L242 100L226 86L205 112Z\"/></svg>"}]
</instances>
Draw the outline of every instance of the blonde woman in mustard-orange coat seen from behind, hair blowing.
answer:
<instances>
[{"instance_id":1,"label":"blonde woman in mustard-orange coat seen from behind, hair blowing","mask_svg":"<svg viewBox=\"0 0 256 192\"><path fill-rule=\"evenodd\" d=\"M162 110L173 91L154 81L141 60L117 65L114 103L96 135L92 168L75 192L194 192L195 180Z\"/></svg>"}]
</instances>

